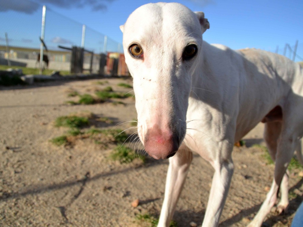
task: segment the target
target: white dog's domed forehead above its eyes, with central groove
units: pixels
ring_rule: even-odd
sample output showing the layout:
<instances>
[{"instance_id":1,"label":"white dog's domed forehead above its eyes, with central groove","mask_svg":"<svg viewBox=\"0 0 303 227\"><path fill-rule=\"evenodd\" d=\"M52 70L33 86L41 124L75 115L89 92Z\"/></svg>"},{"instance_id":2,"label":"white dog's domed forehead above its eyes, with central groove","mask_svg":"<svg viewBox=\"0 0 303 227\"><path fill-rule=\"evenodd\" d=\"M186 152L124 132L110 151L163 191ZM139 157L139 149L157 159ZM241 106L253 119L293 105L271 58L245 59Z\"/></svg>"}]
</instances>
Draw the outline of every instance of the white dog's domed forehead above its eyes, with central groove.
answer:
<instances>
[{"instance_id":1,"label":"white dog's domed forehead above its eyes, with central groove","mask_svg":"<svg viewBox=\"0 0 303 227\"><path fill-rule=\"evenodd\" d=\"M194 12L178 3L150 3L137 8L127 19L125 41L142 39L161 41L165 35L201 36L198 18ZM135 39L135 40L134 40Z\"/></svg>"}]
</instances>

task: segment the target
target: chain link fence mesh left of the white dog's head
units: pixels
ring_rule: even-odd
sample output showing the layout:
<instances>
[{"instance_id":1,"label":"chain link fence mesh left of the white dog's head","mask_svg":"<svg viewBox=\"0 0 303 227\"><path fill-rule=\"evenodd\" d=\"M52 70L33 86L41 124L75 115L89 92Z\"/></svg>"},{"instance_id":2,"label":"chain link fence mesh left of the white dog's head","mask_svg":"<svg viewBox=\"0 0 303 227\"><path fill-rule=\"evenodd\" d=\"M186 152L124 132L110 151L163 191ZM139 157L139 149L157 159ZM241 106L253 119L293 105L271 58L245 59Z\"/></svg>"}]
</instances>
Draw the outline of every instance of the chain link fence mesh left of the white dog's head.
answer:
<instances>
[{"instance_id":1,"label":"chain link fence mesh left of the white dog's head","mask_svg":"<svg viewBox=\"0 0 303 227\"><path fill-rule=\"evenodd\" d=\"M0 28L0 64L38 68L42 7L41 10L28 14L11 12L9 16L5 14L3 19L5 23ZM43 42L46 47L43 54L48 57L48 68L57 71L71 69L72 51L66 48L84 48L83 69L91 68L92 73L99 72L100 54L123 51L122 44L48 7Z\"/></svg>"}]
</instances>

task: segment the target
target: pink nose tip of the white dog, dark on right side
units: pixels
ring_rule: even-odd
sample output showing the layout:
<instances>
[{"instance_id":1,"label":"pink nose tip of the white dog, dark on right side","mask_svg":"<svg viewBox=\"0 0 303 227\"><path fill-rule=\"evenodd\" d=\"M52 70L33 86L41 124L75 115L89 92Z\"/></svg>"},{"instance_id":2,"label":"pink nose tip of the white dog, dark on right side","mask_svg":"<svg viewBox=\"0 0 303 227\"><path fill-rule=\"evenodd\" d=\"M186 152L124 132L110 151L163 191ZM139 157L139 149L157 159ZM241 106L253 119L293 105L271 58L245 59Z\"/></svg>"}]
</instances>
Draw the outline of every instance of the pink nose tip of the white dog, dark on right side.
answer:
<instances>
[{"instance_id":1,"label":"pink nose tip of the white dog, dark on right side","mask_svg":"<svg viewBox=\"0 0 303 227\"><path fill-rule=\"evenodd\" d=\"M179 139L171 130L161 130L158 127L147 130L144 140L146 152L155 159L167 159L177 152Z\"/></svg>"}]
</instances>

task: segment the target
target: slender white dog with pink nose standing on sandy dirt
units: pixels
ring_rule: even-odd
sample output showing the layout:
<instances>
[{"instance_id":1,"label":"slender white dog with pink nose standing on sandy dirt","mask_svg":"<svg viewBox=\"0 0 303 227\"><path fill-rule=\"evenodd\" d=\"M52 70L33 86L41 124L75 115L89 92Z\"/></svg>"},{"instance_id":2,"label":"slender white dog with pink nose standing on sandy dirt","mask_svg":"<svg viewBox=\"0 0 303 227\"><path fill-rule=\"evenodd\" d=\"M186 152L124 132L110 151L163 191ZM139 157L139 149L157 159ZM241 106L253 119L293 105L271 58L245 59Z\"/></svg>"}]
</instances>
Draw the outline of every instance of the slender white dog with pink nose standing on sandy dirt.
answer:
<instances>
[{"instance_id":1,"label":"slender white dog with pink nose standing on sandy dirt","mask_svg":"<svg viewBox=\"0 0 303 227\"><path fill-rule=\"evenodd\" d=\"M147 4L122 25L125 61L132 74L138 135L155 159L169 158L158 226L169 226L192 155L215 169L202 226L218 226L234 165L231 152L258 122L275 160L270 191L249 226L261 226L275 205L288 206L288 163L302 163L303 70L266 51L233 51L202 41L203 12L178 3Z\"/></svg>"}]
</instances>

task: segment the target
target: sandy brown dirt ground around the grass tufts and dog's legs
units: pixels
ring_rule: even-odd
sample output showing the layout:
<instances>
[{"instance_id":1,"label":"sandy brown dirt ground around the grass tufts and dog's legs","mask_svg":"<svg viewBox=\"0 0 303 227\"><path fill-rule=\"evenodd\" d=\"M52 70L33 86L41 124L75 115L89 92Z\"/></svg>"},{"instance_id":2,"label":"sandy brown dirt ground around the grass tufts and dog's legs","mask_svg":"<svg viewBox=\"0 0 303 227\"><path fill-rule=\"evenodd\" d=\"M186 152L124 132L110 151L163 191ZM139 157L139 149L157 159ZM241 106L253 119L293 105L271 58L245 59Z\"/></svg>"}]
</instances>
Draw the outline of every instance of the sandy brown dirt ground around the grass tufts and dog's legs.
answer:
<instances>
[{"instance_id":1,"label":"sandy brown dirt ground around the grass tufts and dog's legs","mask_svg":"<svg viewBox=\"0 0 303 227\"><path fill-rule=\"evenodd\" d=\"M73 90L80 94L106 86L124 93L132 90L118 87L121 82L132 84L130 79L105 78L0 87L0 226L150 226L136 215L158 218L168 160L120 164L108 158L115 144L100 146L89 138L74 146L49 141L67 131L54 126L57 117L81 111L108 117L108 123L98 123L97 128L132 127L129 122L119 124L136 119L132 97L121 100L124 104L65 104L77 100L68 97ZM234 149L235 173L219 226L247 225L265 199L274 166L266 164L264 150L252 146L264 143L262 127L245 137L246 146ZM290 226L303 199L300 171L291 170L288 213L271 212L264 226ZM174 215L177 226L201 225L212 174L211 166L194 155ZM139 205L134 208L131 203L136 199Z\"/></svg>"}]
</instances>

